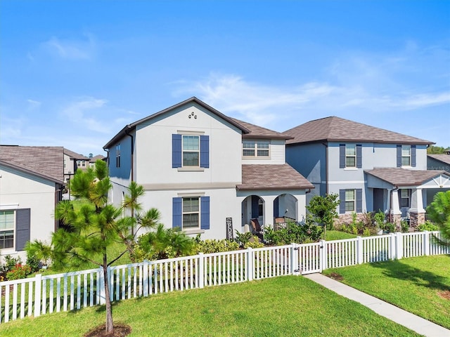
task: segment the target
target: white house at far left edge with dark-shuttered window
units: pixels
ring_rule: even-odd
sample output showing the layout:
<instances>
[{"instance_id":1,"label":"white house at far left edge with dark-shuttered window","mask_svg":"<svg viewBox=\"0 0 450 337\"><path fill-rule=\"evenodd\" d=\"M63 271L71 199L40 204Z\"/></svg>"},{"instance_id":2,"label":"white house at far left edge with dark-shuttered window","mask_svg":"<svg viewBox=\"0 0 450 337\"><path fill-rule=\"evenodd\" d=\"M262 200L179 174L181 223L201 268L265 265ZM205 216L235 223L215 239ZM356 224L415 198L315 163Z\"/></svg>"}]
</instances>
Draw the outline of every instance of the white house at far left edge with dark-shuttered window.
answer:
<instances>
[{"instance_id":1,"label":"white house at far left edge with dark-shuttered window","mask_svg":"<svg viewBox=\"0 0 450 337\"><path fill-rule=\"evenodd\" d=\"M0 255L26 260L34 239L58 228L55 206L64 187L63 147L0 145Z\"/></svg>"}]
</instances>

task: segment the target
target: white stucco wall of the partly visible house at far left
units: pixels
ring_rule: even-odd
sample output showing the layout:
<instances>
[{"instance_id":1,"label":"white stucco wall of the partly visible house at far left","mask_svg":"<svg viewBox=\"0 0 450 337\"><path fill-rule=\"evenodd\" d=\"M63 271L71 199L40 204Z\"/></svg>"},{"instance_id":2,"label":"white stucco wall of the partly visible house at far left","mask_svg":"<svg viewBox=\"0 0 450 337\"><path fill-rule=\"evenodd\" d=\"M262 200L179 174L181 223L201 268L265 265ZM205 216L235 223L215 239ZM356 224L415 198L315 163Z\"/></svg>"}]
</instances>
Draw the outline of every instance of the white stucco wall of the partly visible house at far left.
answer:
<instances>
[{"instance_id":1,"label":"white stucco wall of the partly visible house at far left","mask_svg":"<svg viewBox=\"0 0 450 337\"><path fill-rule=\"evenodd\" d=\"M0 176L0 209L31 209L30 239L50 242L55 228L55 183L6 166L0 166ZM0 250L2 256L16 253L15 249ZM25 252L20 255L25 262Z\"/></svg>"}]
</instances>

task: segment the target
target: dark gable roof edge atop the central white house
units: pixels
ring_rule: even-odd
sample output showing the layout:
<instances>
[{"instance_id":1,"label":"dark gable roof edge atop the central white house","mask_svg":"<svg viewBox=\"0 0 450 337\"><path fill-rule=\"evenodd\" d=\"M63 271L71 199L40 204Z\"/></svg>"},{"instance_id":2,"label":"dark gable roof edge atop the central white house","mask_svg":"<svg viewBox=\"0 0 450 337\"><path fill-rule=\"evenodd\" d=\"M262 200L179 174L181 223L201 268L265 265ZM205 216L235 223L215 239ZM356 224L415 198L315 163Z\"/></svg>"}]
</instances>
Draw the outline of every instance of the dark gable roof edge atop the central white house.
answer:
<instances>
[{"instance_id":1,"label":"dark gable roof edge atop the central white house","mask_svg":"<svg viewBox=\"0 0 450 337\"><path fill-rule=\"evenodd\" d=\"M210 112L212 112L213 114L217 115L217 117L219 117L221 119L224 119L225 121L228 121L233 126L236 126L236 128L240 129L240 131L242 131L242 133L249 133L250 132L247 128L245 128L244 126L238 124L236 121L234 121L230 117L225 116L224 114L222 114L218 110L215 110L214 107L211 107L210 105L207 105L205 102L203 102L202 100L199 100L196 97L191 97L191 98L188 98L187 100L184 100L183 102L180 102L180 103L178 103L176 105L172 105L172 107L167 107L165 110L161 110L160 112L156 112L155 114L151 114L148 117L144 117L143 119L139 119L139 121L135 121L134 123L126 125L124 128L122 128L121 131L119 131L119 133L117 133L117 135L115 135L108 143L106 143L105 146L103 146L103 149L109 149L111 145L116 143L117 140L122 139L131 130L135 129L136 126L138 126L139 124L141 124L141 123L143 123L145 121L150 121L151 119L154 119L155 117L158 117L158 116L160 116L162 114L165 114L166 112L174 110L174 109L176 109L178 107L181 107L183 105L186 105L188 103L197 103L201 107L204 107L205 109L210 110Z\"/></svg>"}]
</instances>

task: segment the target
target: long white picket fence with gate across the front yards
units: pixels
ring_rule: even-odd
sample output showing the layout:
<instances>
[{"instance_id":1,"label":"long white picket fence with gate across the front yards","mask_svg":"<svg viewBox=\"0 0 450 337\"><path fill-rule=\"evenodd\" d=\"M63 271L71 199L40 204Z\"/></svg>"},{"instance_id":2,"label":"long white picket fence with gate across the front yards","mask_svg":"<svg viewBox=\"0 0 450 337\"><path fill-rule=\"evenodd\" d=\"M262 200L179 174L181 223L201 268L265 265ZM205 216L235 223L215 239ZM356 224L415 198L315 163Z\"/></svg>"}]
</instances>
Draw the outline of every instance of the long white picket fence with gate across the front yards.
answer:
<instances>
[{"instance_id":1,"label":"long white picket fence with gate across the front yards","mask_svg":"<svg viewBox=\"0 0 450 337\"><path fill-rule=\"evenodd\" d=\"M304 275L396 258L450 254L450 247L435 244L432 234L439 237L439 232L392 233L329 242L321 240L313 244L199 253L110 267L110 299ZM104 285L100 268L0 282L0 323L104 304Z\"/></svg>"}]
</instances>

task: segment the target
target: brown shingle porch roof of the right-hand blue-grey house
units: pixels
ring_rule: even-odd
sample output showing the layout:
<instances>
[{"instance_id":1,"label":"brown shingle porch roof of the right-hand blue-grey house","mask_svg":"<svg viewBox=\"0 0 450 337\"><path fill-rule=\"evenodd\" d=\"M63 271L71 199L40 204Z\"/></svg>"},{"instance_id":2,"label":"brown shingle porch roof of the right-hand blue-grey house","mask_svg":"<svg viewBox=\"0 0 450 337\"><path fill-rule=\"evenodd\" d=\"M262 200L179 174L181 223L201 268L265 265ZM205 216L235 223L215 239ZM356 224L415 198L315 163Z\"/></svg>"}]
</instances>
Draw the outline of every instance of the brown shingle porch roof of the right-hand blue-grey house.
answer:
<instances>
[{"instance_id":1,"label":"brown shingle porch roof of the right-hand blue-grey house","mask_svg":"<svg viewBox=\"0 0 450 337\"><path fill-rule=\"evenodd\" d=\"M401 167L396 168L379 168L364 171L372 176L385 180L394 186L419 186L441 174L450 176L446 171L437 170L406 170Z\"/></svg>"}]
</instances>

